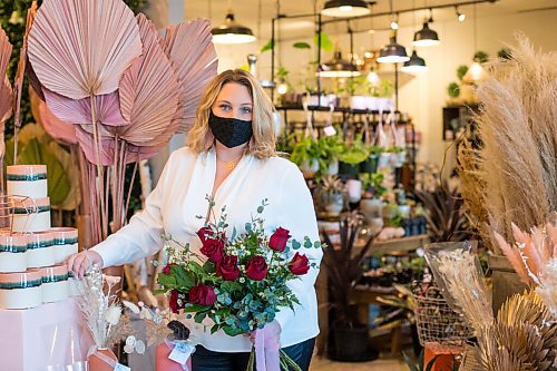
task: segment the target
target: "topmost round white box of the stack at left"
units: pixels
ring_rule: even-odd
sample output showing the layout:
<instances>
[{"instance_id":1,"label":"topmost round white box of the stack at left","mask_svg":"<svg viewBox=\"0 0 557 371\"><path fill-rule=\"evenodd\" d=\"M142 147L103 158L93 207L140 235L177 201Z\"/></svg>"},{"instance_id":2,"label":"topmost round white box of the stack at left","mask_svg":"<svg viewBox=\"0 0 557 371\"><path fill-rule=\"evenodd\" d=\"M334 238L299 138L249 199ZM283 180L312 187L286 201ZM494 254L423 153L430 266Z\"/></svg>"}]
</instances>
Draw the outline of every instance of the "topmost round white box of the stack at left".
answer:
<instances>
[{"instance_id":1,"label":"topmost round white box of the stack at left","mask_svg":"<svg viewBox=\"0 0 557 371\"><path fill-rule=\"evenodd\" d=\"M9 195L45 198L48 196L47 165L13 165L6 169Z\"/></svg>"}]
</instances>

